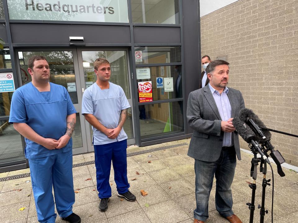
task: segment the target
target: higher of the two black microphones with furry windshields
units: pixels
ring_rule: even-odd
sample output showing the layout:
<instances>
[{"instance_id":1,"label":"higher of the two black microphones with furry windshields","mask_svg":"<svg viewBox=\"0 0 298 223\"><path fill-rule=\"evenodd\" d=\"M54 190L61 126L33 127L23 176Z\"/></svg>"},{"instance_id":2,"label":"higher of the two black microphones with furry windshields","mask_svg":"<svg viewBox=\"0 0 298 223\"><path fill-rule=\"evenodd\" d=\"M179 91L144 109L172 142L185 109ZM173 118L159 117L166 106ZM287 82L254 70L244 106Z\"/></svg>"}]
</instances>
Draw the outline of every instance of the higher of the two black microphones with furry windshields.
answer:
<instances>
[{"instance_id":1,"label":"higher of the two black microphones with furry windshields","mask_svg":"<svg viewBox=\"0 0 298 223\"><path fill-rule=\"evenodd\" d=\"M239 112L239 118L243 122L246 122L251 129L257 133L256 135L256 141L260 143L264 143L271 138L271 133L268 130L262 130L266 129L266 126L264 123L260 120L260 118L251 110L248 108L243 108Z\"/></svg>"}]
</instances>

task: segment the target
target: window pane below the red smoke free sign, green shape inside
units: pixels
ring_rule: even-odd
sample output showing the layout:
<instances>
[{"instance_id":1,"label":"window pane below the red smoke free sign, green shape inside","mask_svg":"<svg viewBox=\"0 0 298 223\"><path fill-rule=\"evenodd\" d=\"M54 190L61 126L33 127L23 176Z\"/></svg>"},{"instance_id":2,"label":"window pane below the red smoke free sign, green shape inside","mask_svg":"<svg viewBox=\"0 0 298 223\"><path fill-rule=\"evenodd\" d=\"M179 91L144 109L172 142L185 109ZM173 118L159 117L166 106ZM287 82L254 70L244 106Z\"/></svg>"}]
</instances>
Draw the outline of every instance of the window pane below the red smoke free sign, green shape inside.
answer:
<instances>
[{"instance_id":1,"label":"window pane below the red smoke free sign, green shape inside","mask_svg":"<svg viewBox=\"0 0 298 223\"><path fill-rule=\"evenodd\" d=\"M183 132L183 102L139 106L141 139Z\"/></svg>"}]
</instances>

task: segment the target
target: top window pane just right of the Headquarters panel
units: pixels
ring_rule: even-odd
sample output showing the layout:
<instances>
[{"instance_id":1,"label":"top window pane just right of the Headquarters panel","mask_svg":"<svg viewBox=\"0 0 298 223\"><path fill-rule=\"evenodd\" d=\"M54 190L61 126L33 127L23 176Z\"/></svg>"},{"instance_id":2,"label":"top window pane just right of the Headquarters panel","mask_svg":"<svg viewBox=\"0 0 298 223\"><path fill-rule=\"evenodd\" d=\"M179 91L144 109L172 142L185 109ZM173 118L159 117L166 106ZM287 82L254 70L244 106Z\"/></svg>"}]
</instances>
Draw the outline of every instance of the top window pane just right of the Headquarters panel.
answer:
<instances>
[{"instance_id":1,"label":"top window pane just right of the Headquarters panel","mask_svg":"<svg viewBox=\"0 0 298 223\"><path fill-rule=\"evenodd\" d=\"M133 23L180 24L178 0L132 0Z\"/></svg>"}]
</instances>

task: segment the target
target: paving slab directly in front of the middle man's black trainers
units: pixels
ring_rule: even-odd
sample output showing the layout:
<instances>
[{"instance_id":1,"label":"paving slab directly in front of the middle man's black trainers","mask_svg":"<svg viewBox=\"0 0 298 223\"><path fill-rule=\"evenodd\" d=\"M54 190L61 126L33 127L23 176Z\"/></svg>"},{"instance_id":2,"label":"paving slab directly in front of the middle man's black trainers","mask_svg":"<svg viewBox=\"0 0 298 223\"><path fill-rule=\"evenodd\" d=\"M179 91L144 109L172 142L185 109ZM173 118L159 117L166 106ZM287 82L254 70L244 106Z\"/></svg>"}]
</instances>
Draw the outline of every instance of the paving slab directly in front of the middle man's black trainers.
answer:
<instances>
[{"instance_id":1,"label":"paving slab directly in front of the middle man's black trainers","mask_svg":"<svg viewBox=\"0 0 298 223\"><path fill-rule=\"evenodd\" d=\"M137 201L127 201L122 200L117 196L111 197L110 202L108 203L108 209L105 214L107 218L118 216L127 212L131 212L137 209L140 209L140 205Z\"/></svg>"}]
</instances>

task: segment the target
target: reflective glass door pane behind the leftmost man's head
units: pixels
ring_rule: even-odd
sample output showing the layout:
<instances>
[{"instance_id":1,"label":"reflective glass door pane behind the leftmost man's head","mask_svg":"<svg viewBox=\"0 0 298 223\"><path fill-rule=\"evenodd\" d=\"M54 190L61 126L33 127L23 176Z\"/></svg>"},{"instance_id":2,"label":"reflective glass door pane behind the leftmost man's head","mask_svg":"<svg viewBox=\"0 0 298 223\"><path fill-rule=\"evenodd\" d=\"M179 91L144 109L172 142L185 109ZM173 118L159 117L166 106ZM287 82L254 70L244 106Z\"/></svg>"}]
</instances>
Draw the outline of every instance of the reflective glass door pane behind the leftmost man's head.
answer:
<instances>
[{"instance_id":1,"label":"reflective glass door pane behind the leftmost man's head","mask_svg":"<svg viewBox=\"0 0 298 223\"><path fill-rule=\"evenodd\" d=\"M47 59L50 66L50 82L64 86L74 104L78 103L77 88L75 82L75 68L72 51L34 51L19 52L20 70L22 84L32 81L31 75L27 71L28 59L34 55L41 55Z\"/></svg>"}]
</instances>

